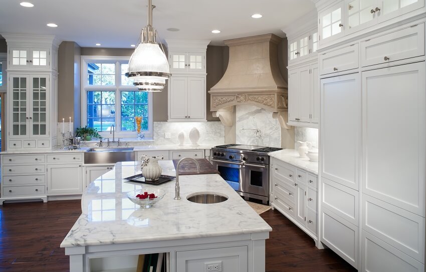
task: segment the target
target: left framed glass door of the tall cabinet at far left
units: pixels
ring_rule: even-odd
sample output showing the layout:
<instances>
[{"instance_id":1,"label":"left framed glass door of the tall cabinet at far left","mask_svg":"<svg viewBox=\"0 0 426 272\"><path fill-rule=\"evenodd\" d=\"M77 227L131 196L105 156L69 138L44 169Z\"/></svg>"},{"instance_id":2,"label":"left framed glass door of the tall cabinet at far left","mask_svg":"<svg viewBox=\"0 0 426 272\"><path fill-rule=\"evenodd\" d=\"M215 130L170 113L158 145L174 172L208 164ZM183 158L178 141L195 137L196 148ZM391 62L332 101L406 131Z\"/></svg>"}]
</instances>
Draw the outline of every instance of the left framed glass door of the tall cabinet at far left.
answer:
<instances>
[{"instance_id":1,"label":"left framed glass door of the tall cabinet at far left","mask_svg":"<svg viewBox=\"0 0 426 272\"><path fill-rule=\"evenodd\" d=\"M29 135L28 76L11 76L12 83L12 131L11 138L24 138Z\"/></svg>"}]
</instances>

